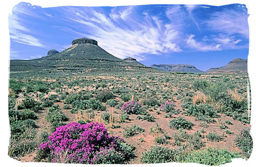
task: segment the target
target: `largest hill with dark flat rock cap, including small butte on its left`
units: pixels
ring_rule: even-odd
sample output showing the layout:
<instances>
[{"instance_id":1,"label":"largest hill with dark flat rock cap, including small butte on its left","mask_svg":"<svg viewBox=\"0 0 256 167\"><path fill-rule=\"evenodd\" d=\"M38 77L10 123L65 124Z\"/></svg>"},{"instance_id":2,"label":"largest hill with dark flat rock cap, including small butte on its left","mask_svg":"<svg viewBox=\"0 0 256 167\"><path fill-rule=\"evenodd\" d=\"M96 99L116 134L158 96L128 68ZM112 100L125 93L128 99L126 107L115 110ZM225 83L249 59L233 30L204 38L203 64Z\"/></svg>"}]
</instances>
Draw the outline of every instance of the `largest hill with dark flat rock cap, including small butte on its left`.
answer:
<instances>
[{"instance_id":1,"label":"largest hill with dark flat rock cap, including small butte on its left","mask_svg":"<svg viewBox=\"0 0 256 167\"><path fill-rule=\"evenodd\" d=\"M124 61L109 54L93 39L72 41L64 51L50 50L32 60L11 60L10 71L157 71L140 63Z\"/></svg>"}]
</instances>

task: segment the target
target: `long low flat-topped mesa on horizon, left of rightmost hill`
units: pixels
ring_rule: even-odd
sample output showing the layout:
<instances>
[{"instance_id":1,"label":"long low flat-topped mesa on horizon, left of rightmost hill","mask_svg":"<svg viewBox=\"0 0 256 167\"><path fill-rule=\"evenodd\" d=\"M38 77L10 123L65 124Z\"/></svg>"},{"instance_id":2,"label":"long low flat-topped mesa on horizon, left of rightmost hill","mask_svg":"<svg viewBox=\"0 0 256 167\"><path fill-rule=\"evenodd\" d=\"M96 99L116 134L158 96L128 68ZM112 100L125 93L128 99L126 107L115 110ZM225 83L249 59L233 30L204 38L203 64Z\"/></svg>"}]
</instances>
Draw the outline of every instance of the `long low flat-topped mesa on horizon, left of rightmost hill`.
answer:
<instances>
[{"instance_id":1,"label":"long low flat-topped mesa on horizon, left of rightmost hill","mask_svg":"<svg viewBox=\"0 0 256 167\"><path fill-rule=\"evenodd\" d=\"M203 73L203 71L195 68L194 65L189 64L153 64L149 67L161 70L161 71L169 71L169 72L193 72L193 73Z\"/></svg>"}]
</instances>

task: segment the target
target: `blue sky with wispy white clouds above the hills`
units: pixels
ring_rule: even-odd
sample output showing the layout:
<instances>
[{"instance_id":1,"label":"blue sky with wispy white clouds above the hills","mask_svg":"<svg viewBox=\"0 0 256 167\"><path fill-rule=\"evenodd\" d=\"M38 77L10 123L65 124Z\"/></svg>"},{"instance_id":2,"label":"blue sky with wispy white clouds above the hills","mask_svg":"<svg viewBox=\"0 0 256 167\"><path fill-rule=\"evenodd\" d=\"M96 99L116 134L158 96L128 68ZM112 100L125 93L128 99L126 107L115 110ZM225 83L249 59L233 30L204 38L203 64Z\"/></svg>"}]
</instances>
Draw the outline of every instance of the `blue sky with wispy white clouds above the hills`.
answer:
<instances>
[{"instance_id":1,"label":"blue sky with wispy white clouds above the hills","mask_svg":"<svg viewBox=\"0 0 256 167\"><path fill-rule=\"evenodd\" d=\"M23 2L9 15L10 59L40 58L86 37L118 58L206 71L247 59L248 16L241 4L42 8Z\"/></svg>"}]
</instances>

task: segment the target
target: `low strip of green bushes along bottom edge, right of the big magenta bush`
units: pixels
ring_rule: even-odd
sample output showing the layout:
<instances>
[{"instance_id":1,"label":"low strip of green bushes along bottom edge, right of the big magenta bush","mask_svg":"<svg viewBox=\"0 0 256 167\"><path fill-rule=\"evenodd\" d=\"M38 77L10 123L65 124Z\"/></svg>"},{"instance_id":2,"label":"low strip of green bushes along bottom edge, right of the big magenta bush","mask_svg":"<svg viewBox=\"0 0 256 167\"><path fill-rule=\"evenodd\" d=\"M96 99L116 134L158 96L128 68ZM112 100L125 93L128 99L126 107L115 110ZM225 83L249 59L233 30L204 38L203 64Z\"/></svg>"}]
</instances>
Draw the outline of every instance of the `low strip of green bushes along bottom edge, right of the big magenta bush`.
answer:
<instances>
[{"instance_id":1,"label":"low strip of green bushes along bottom edge, right of the big magenta bush","mask_svg":"<svg viewBox=\"0 0 256 167\"><path fill-rule=\"evenodd\" d=\"M161 157L161 158L160 158ZM141 162L166 163L166 162L192 162L204 165L216 166L231 162L233 158L241 158L236 152L226 149L206 148L199 151L186 151L155 146L142 153Z\"/></svg>"}]
</instances>

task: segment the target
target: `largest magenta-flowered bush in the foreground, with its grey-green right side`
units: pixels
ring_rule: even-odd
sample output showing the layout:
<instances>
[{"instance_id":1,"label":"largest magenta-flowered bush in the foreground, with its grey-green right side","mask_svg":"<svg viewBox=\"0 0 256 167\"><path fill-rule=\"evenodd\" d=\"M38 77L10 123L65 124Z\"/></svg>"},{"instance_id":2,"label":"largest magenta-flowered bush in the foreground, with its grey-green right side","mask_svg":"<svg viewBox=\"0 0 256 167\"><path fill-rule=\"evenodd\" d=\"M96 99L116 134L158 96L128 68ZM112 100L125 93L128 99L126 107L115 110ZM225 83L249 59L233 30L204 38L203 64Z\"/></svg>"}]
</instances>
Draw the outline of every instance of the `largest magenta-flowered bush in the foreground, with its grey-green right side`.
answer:
<instances>
[{"instance_id":1,"label":"largest magenta-flowered bush in the foreground, with its grey-green right side","mask_svg":"<svg viewBox=\"0 0 256 167\"><path fill-rule=\"evenodd\" d=\"M41 143L38 160L83 164L125 163L133 155L134 147L121 138L110 136L103 124L90 122L68 123L56 128ZM63 154L64 153L64 154Z\"/></svg>"}]
</instances>

